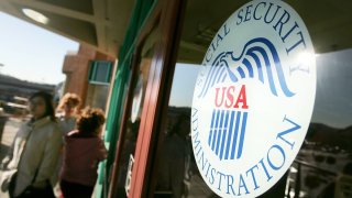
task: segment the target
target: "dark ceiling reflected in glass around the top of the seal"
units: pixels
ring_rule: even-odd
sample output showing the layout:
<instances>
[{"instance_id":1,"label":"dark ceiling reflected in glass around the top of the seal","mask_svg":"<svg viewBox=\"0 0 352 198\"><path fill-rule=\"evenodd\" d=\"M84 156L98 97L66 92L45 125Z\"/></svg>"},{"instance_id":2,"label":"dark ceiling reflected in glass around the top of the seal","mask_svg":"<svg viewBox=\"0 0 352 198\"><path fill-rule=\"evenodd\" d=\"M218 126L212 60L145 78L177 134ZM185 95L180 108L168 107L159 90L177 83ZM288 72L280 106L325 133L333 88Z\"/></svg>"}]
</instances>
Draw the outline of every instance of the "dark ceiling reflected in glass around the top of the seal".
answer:
<instances>
[{"instance_id":1,"label":"dark ceiling reflected in glass around the top of the seal","mask_svg":"<svg viewBox=\"0 0 352 198\"><path fill-rule=\"evenodd\" d=\"M352 1L285 0L305 21L316 53L352 47ZM249 0L188 0L178 62L201 63L222 23Z\"/></svg>"}]
</instances>

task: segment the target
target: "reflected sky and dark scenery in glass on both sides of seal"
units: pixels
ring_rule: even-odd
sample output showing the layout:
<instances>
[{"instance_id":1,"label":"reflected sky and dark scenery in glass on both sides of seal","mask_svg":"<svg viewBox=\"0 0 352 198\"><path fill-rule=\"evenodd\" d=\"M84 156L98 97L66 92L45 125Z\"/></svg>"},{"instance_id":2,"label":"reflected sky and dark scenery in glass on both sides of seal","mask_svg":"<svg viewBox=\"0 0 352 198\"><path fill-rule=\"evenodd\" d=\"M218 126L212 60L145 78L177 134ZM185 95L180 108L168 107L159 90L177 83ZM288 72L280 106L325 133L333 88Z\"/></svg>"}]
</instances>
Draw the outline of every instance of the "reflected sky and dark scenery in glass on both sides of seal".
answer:
<instances>
[{"instance_id":1,"label":"reflected sky and dark scenery in glass on both sides of seal","mask_svg":"<svg viewBox=\"0 0 352 198\"><path fill-rule=\"evenodd\" d=\"M352 50L317 56L317 97L311 124L295 162L274 188L279 197L352 197ZM199 175L189 133L199 65L177 64L164 132L156 195L217 197ZM187 86L186 86L187 85ZM189 90L188 90L189 89ZM185 128L184 128L185 127ZM190 154L190 156L189 156ZM178 186L176 185L178 184ZM284 185L282 185L284 184ZM261 197L277 195L275 190Z\"/></svg>"}]
</instances>

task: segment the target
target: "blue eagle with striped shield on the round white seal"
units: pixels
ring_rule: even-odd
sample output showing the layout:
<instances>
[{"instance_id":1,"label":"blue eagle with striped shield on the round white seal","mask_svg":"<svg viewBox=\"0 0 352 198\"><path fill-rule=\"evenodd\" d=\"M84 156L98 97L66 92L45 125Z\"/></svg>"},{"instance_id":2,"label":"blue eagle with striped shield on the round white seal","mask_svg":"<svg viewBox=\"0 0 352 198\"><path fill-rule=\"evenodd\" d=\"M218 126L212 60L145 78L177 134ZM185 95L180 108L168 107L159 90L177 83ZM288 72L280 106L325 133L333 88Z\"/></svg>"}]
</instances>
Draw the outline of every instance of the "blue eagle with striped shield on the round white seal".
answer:
<instances>
[{"instance_id":1,"label":"blue eagle with striped shield on the round white seal","mask_svg":"<svg viewBox=\"0 0 352 198\"><path fill-rule=\"evenodd\" d=\"M204 98L210 88L227 78L234 84L246 78L260 80L276 97L295 96L287 87L274 44L264 37L249 41L239 56L233 52L220 53L212 62L197 97ZM249 112L213 109L208 145L220 160L241 157L248 118Z\"/></svg>"}]
</instances>

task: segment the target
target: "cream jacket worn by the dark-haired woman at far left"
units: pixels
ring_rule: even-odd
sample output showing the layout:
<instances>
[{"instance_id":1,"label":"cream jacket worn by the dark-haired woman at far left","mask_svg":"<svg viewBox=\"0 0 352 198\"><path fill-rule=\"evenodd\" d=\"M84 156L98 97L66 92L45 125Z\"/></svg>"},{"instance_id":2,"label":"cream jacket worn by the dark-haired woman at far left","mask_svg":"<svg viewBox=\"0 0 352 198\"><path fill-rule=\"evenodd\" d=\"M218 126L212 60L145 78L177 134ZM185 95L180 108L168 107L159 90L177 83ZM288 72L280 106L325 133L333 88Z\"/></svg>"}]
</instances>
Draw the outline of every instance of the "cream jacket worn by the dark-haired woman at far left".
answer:
<instances>
[{"instance_id":1,"label":"cream jacket worn by the dark-haired woman at far left","mask_svg":"<svg viewBox=\"0 0 352 198\"><path fill-rule=\"evenodd\" d=\"M35 188L45 188L50 182L54 186L52 177L62 145L58 125L48 117L28 122L20 128L10 155L4 160L8 160L8 169L18 169L14 196L21 195L31 185Z\"/></svg>"}]
</instances>

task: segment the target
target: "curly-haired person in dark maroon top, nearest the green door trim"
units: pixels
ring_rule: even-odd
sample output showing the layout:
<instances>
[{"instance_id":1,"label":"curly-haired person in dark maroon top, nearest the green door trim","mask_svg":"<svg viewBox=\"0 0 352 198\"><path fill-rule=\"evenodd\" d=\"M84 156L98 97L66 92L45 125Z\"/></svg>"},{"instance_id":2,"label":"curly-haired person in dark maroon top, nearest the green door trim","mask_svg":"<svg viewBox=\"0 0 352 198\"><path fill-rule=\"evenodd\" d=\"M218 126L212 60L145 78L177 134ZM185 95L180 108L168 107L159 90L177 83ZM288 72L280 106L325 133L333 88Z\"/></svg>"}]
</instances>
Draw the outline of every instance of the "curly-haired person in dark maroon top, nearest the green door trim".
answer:
<instances>
[{"instance_id":1,"label":"curly-haired person in dark maroon top, nearest the green door trim","mask_svg":"<svg viewBox=\"0 0 352 198\"><path fill-rule=\"evenodd\" d=\"M61 188L65 198L90 198L98 178L98 164L107 157L100 138L105 123L102 110L85 108L77 130L65 136Z\"/></svg>"}]
</instances>

